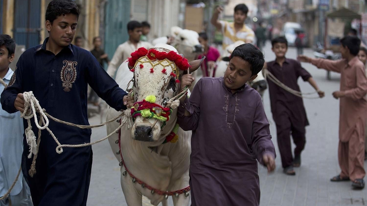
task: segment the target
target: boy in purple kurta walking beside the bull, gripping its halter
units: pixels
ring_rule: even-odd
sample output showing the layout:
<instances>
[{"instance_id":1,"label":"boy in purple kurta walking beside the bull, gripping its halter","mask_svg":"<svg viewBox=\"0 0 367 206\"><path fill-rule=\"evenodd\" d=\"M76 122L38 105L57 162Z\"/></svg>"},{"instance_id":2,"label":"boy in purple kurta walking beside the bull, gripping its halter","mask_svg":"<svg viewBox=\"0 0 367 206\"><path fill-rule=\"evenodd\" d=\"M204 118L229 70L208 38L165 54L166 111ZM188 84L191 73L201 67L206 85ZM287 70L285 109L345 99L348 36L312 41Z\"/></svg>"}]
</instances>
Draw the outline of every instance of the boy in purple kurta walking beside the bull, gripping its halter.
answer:
<instances>
[{"instance_id":1,"label":"boy in purple kurta walking beside the bull, gripping its halter","mask_svg":"<svg viewBox=\"0 0 367 206\"><path fill-rule=\"evenodd\" d=\"M190 187L192 206L257 206L257 161L275 169L269 122L257 91L246 84L257 77L264 55L242 44L224 77L201 78L190 99L181 99L178 124L192 130ZM185 75L181 89L193 78Z\"/></svg>"}]
</instances>

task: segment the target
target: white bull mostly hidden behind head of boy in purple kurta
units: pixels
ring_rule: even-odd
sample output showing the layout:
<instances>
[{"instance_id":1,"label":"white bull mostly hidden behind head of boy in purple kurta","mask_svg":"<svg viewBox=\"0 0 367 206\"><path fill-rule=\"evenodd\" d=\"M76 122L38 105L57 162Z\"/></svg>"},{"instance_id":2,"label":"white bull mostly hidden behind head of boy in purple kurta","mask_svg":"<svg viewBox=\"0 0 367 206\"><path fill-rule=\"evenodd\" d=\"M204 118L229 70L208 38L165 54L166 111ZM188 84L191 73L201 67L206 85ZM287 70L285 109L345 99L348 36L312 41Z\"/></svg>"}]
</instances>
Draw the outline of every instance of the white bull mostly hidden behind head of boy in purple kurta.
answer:
<instances>
[{"instance_id":1,"label":"white bull mostly hidden behind head of boy in purple kurta","mask_svg":"<svg viewBox=\"0 0 367 206\"><path fill-rule=\"evenodd\" d=\"M217 70L215 71L214 76L215 77L223 77L224 73L228 67L229 64L229 58L230 55L232 54L233 50L235 50L236 47L238 47L239 45L244 44L243 41L236 41L233 44L230 44L226 47L225 51L223 52L224 54L222 55L222 58L220 60L218 60L217 62ZM248 84L254 88L256 91L259 92L259 94L262 96L264 95L265 89L267 88L266 86L266 81L264 76L262 75L261 72L259 72L257 74L257 77L255 78L254 81L252 82L248 82Z\"/></svg>"}]
</instances>

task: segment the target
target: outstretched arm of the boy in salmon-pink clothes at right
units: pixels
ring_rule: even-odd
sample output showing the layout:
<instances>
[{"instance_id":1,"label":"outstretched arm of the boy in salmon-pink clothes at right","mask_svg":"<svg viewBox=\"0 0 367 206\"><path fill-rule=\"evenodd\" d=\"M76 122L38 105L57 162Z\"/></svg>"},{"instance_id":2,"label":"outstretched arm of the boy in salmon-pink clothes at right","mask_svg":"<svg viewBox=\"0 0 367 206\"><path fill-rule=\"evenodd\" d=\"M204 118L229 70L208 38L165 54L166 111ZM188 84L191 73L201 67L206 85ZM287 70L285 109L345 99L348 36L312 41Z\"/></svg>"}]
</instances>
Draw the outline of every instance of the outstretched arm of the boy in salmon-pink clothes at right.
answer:
<instances>
[{"instance_id":1,"label":"outstretched arm of the boy in salmon-pink clothes at right","mask_svg":"<svg viewBox=\"0 0 367 206\"><path fill-rule=\"evenodd\" d=\"M340 73L342 67L346 66L346 61L344 59L341 60L330 60L321 58L315 59L305 55L299 55L297 59L300 62L312 63L313 65L317 66L317 68L326 69L328 71L335 71L338 73Z\"/></svg>"}]
</instances>

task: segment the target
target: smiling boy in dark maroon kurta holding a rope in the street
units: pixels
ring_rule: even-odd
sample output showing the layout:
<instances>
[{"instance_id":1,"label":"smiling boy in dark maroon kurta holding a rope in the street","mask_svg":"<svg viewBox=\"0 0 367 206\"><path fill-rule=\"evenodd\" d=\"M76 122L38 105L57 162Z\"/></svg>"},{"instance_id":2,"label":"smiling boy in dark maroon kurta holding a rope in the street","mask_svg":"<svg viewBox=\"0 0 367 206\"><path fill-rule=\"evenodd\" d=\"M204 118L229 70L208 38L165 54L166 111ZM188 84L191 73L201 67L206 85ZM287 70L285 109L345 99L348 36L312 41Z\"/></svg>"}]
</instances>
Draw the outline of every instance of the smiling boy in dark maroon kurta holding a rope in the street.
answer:
<instances>
[{"instance_id":1,"label":"smiling boy in dark maroon kurta holding a rope in the street","mask_svg":"<svg viewBox=\"0 0 367 206\"><path fill-rule=\"evenodd\" d=\"M304 81L308 81L313 88L319 93L320 97L324 96L324 92L319 91L316 82L301 64L294 59L287 59L286 53L288 43L286 38L277 37L272 40L272 51L276 55L276 59L267 63L267 69L278 80L287 87L296 91L301 91L297 84L299 77ZM272 108L273 119L277 129L277 141L280 151L281 164L284 173L295 175L293 167L301 165L301 152L306 144L306 129L308 119L306 110L301 97L286 91L274 82L268 79L270 106ZM292 134L294 144L294 159L292 156L290 134Z\"/></svg>"}]
</instances>

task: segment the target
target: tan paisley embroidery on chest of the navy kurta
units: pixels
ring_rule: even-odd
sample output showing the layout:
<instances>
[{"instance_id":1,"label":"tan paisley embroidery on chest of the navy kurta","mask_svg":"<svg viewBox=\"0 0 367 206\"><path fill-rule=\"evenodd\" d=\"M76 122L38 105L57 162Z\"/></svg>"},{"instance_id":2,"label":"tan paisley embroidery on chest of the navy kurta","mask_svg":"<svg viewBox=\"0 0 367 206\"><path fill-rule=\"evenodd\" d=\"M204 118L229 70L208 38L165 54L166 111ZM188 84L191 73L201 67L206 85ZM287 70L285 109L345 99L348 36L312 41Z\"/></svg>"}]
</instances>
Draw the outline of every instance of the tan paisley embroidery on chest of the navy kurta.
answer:
<instances>
[{"instance_id":1,"label":"tan paisley embroidery on chest of the navy kurta","mask_svg":"<svg viewBox=\"0 0 367 206\"><path fill-rule=\"evenodd\" d=\"M78 64L76 61L68 61L63 60L62 62L64 66L61 69L61 81L62 87L65 92L70 92L70 89L73 87L73 83L76 80L76 68L75 66Z\"/></svg>"}]
</instances>

